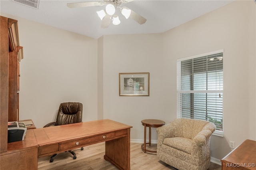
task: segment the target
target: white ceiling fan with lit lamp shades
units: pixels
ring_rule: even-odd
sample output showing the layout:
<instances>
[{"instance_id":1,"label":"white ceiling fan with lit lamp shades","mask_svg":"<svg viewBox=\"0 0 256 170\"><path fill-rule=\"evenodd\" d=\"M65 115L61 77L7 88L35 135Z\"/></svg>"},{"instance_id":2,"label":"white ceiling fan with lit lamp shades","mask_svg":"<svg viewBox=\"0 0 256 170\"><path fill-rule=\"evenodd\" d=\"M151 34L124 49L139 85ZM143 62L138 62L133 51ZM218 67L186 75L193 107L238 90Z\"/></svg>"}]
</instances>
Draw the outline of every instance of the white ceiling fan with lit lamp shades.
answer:
<instances>
[{"instance_id":1,"label":"white ceiling fan with lit lamp shades","mask_svg":"<svg viewBox=\"0 0 256 170\"><path fill-rule=\"evenodd\" d=\"M88 6L104 6L106 8L104 10L97 11L98 16L102 20L101 28L108 28L110 22L114 25L120 24L119 17L117 15L117 11L119 10L122 15L128 19L131 18L139 24L144 24L146 22L146 18L140 16L140 14L130 10L126 6L122 6L122 3L128 3L134 0L103 0L102 2L76 2L76 3L68 3L67 6L69 8L78 8L78 7L88 7Z\"/></svg>"}]
</instances>

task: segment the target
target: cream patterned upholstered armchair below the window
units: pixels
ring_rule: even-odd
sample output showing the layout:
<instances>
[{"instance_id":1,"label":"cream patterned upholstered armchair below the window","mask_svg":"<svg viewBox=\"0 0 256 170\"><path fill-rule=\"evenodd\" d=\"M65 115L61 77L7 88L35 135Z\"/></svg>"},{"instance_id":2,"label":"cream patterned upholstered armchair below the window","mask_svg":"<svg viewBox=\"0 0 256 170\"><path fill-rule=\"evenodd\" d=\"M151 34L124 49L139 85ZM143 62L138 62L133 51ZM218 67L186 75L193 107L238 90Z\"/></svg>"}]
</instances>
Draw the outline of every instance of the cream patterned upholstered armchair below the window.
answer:
<instances>
[{"instance_id":1,"label":"cream patterned upholstered armchair below the window","mask_svg":"<svg viewBox=\"0 0 256 170\"><path fill-rule=\"evenodd\" d=\"M156 128L158 158L179 170L206 170L210 166L210 137L214 123L179 118Z\"/></svg>"}]
</instances>

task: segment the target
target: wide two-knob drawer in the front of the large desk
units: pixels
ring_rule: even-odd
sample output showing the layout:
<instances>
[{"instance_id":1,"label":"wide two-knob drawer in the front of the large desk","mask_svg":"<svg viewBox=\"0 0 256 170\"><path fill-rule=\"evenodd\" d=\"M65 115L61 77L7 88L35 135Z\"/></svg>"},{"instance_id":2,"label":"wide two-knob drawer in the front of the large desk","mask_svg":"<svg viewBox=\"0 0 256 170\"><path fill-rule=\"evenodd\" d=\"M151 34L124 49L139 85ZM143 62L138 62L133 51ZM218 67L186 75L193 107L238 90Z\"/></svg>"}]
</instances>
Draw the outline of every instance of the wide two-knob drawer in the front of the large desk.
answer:
<instances>
[{"instance_id":1,"label":"wide two-knob drawer in the front of the large desk","mask_svg":"<svg viewBox=\"0 0 256 170\"><path fill-rule=\"evenodd\" d=\"M62 142L60 143L60 150L68 150L70 148L76 148L76 147L81 147L85 146L90 143L95 143L95 142L101 142L104 140L107 140L109 138L114 138L115 133L107 133L107 134L101 134L93 137L88 137L88 138L83 138L83 139L78 139L78 140L72 140L69 142Z\"/></svg>"}]
</instances>

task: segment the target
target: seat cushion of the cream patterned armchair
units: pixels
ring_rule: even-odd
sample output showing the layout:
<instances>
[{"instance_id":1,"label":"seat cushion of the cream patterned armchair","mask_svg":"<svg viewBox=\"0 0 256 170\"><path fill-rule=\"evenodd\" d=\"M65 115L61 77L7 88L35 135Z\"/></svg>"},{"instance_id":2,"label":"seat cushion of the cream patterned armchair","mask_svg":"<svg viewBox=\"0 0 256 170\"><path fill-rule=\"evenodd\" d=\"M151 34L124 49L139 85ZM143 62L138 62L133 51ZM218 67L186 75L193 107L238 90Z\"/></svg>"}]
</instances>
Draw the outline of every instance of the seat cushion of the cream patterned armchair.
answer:
<instances>
[{"instance_id":1,"label":"seat cushion of the cream patterned armchair","mask_svg":"<svg viewBox=\"0 0 256 170\"><path fill-rule=\"evenodd\" d=\"M163 144L191 154L192 140L189 138L174 137L165 138Z\"/></svg>"}]
</instances>

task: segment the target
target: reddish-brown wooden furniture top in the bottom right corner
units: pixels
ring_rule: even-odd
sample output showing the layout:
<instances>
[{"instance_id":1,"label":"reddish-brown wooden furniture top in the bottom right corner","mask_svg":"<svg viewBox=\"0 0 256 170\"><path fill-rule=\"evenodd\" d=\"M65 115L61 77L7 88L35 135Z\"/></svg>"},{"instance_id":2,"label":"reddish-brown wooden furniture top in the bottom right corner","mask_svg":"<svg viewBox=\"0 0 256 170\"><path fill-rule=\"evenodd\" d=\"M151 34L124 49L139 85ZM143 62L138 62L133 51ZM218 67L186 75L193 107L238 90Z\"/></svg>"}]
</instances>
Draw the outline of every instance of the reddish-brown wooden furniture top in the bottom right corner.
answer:
<instances>
[{"instance_id":1,"label":"reddish-brown wooden furniture top in the bottom right corner","mask_svg":"<svg viewBox=\"0 0 256 170\"><path fill-rule=\"evenodd\" d=\"M256 141L245 140L221 162L222 170L256 170Z\"/></svg>"}]
</instances>

